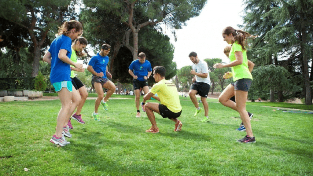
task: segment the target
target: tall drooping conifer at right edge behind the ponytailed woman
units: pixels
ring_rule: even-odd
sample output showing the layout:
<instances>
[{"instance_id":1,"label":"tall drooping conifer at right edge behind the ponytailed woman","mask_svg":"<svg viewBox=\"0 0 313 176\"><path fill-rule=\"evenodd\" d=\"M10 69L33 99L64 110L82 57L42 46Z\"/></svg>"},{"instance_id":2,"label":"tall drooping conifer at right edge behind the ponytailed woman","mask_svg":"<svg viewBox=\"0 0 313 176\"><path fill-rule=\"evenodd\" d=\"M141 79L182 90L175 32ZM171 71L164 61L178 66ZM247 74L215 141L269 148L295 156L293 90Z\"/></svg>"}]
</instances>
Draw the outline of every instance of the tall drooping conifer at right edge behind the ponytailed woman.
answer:
<instances>
[{"instance_id":1,"label":"tall drooping conifer at right edge behind the ponytailed woman","mask_svg":"<svg viewBox=\"0 0 313 176\"><path fill-rule=\"evenodd\" d=\"M246 0L245 4L245 29L260 36L254 43L255 53L250 52L252 60L284 66L292 75L300 73L305 104L311 105L313 0Z\"/></svg>"}]
</instances>

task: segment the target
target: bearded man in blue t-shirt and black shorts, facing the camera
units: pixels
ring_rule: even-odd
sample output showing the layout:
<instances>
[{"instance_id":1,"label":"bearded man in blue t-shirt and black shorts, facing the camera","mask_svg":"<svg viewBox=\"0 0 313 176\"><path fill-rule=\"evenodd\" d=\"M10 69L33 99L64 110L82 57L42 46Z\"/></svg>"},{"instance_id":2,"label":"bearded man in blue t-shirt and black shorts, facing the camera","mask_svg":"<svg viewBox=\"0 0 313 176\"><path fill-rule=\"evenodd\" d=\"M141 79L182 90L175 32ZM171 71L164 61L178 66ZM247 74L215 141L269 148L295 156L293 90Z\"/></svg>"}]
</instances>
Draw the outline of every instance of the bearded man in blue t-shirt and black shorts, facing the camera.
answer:
<instances>
[{"instance_id":1,"label":"bearded man in blue t-shirt and black shorts, facing the camera","mask_svg":"<svg viewBox=\"0 0 313 176\"><path fill-rule=\"evenodd\" d=\"M135 92L135 103L137 107L136 117L140 117L139 104L140 104L140 92L141 89L145 94L149 92L148 82L149 76L152 73L151 64L146 60L145 53L139 53L138 59L134 60L128 67L128 73L134 78L134 92ZM142 106L142 105L141 105ZM145 112L144 109L142 111Z\"/></svg>"}]
</instances>

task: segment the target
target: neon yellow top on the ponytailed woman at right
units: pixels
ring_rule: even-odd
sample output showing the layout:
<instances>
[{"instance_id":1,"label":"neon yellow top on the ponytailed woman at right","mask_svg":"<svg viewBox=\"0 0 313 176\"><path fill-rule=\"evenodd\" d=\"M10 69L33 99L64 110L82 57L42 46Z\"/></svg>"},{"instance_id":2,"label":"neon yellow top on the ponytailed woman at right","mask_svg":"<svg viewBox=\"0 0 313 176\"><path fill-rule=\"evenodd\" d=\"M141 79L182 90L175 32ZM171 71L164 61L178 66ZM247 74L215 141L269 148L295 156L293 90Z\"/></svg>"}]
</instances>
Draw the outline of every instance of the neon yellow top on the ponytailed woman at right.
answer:
<instances>
[{"instance_id":1,"label":"neon yellow top on the ponytailed woman at right","mask_svg":"<svg viewBox=\"0 0 313 176\"><path fill-rule=\"evenodd\" d=\"M232 62L236 60L235 58L235 51L241 51L243 60L241 65L236 65L232 67L233 73L233 81L240 80L243 78L248 78L252 80L252 75L248 69L248 58L247 58L247 51L243 50L241 45L238 43L234 43L232 48L230 49L229 53L229 60Z\"/></svg>"}]
</instances>

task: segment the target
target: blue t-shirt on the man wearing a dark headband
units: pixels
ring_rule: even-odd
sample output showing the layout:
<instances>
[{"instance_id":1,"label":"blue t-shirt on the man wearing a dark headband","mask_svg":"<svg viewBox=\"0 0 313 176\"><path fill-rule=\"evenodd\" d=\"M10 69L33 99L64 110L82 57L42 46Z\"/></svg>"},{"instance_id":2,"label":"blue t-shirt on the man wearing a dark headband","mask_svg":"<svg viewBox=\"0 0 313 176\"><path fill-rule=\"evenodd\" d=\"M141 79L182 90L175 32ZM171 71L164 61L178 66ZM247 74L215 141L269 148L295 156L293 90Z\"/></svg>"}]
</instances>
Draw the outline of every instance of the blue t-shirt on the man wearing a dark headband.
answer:
<instances>
[{"instance_id":1,"label":"blue t-shirt on the man wearing a dark headband","mask_svg":"<svg viewBox=\"0 0 313 176\"><path fill-rule=\"evenodd\" d=\"M106 65L108 65L109 56L101 56L99 53L97 55L92 56L88 65L92 66L95 72L100 73L103 72L103 77L106 78Z\"/></svg>"}]
</instances>

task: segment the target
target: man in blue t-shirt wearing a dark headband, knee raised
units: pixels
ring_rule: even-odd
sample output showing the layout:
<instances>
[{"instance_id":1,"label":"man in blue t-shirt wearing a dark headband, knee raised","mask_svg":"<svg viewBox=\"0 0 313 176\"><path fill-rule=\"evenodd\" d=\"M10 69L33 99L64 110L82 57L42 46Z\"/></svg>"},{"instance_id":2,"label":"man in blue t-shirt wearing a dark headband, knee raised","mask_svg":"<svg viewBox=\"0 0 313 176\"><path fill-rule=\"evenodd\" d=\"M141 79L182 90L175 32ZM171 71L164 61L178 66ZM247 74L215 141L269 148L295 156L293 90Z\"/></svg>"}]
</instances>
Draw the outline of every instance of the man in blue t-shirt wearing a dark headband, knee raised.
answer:
<instances>
[{"instance_id":1,"label":"man in blue t-shirt wearing a dark headband, knee raised","mask_svg":"<svg viewBox=\"0 0 313 176\"><path fill-rule=\"evenodd\" d=\"M95 111L91 114L96 121L99 121L98 108L100 103L103 106L103 109L108 111L108 104L106 101L108 101L115 91L114 83L107 78L107 76L112 78L112 75L108 71L109 57L107 55L110 53L110 48L111 46L109 44L103 44L101 46L101 51L97 55L92 56L87 67L87 70L92 73L91 85L98 94L98 98L95 101ZM102 88L108 89L104 98Z\"/></svg>"}]
</instances>

